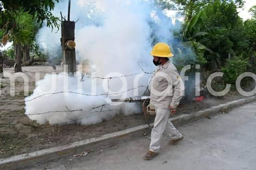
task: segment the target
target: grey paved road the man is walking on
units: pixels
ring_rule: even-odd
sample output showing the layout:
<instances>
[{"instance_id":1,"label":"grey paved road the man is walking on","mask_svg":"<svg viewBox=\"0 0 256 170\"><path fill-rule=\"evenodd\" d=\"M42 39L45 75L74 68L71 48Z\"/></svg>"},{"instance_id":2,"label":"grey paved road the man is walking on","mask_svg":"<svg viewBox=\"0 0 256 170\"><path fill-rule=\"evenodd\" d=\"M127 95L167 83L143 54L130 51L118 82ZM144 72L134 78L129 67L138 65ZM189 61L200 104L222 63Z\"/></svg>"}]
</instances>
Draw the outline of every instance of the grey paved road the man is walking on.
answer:
<instances>
[{"instance_id":1,"label":"grey paved road the man is walking on","mask_svg":"<svg viewBox=\"0 0 256 170\"><path fill-rule=\"evenodd\" d=\"M256 170L256 102L178 127L184 140L144 161L150 140L141 137L26 170Z\"/></svg>"}]
</instances>

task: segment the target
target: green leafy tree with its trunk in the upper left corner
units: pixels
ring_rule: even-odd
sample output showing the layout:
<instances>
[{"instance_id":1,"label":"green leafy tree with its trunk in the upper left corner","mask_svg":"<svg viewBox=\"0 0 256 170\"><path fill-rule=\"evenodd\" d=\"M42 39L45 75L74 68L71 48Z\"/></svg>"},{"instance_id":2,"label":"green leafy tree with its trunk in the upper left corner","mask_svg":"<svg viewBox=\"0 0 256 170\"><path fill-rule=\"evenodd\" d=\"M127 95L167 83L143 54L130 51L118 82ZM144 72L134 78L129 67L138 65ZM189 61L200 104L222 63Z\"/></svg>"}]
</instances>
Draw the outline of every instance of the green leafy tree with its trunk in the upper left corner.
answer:
<instances>
[{"instance_id":1,"label":"green leafy tree with its trunk in the upper left corner","mask_svg":"<svg viewBox=\"0 0 256 170\"><path fill-rule=\"evenodd\" d=\"M43 21L46 20L46 25L52 29L59 26L59 19L50 12L54 8L55 2L58 2L58 0L30 0L29 3L24 0L0 1L0 27L4 32L2 43L6 44L9 40L14 42L16 61L14 72L22 71L22 55L24 55L25 61L29 60L29 47L32 42L32 36L34 36L31 28L34 22L29 24L28 21L35 18L39 24L43 24Z\"/></svg>"}]
</instances>

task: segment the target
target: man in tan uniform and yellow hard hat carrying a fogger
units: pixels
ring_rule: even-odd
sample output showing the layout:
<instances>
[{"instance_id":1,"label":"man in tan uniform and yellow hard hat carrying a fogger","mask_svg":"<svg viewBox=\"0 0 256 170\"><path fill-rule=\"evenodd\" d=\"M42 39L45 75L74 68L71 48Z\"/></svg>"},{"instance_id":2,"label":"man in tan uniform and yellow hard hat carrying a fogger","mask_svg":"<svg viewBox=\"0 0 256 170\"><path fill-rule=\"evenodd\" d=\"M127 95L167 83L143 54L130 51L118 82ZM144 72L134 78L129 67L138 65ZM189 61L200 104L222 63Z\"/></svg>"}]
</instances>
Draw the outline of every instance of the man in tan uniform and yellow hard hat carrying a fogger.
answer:
<instances>
[{"instance_id":1,"label":"man in tan uniform and yellow hard hat carrying a fogger","mask_svg":"<svg viewBox=\"0 0 256 170\"><path fill-rule=\"evenodd\" d=\"M154 46L151 55L154 57L154 64L158 66L153 75L150 89L150 103L155 106L156 117L154 128L151 131L149 151L144 156L145 160L153 159L158 155L160 141L165 130L171 139L170 145L176 145L183 139L182 134L173 126L173 123L168 121L171 111L179 105L185 90L177 68L168 59L173 54L166 43L160 42Z\"/></svg>"}]
</instances>

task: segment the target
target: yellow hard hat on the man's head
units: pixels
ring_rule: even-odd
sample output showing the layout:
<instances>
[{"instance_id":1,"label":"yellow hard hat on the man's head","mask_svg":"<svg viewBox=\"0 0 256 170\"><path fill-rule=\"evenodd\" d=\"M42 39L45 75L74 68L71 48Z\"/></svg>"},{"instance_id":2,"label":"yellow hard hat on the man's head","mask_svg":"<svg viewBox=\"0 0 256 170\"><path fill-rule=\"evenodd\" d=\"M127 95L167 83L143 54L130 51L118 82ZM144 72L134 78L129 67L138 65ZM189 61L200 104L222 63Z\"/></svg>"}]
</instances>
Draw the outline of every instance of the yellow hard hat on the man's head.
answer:
<instances>
[{"instance_id":1,"label":"yellow hard hat on the man's head","mask_svg":"<svg viewBox=\"0 0 256 170\"><path fill-rule=\"evenodd\" d=\"M171 53L170 47L164 43L164 42L159 42L154 45L151 55L156 56L156 57L172 57L173 54Z\"/></svg>"}]
</instances>

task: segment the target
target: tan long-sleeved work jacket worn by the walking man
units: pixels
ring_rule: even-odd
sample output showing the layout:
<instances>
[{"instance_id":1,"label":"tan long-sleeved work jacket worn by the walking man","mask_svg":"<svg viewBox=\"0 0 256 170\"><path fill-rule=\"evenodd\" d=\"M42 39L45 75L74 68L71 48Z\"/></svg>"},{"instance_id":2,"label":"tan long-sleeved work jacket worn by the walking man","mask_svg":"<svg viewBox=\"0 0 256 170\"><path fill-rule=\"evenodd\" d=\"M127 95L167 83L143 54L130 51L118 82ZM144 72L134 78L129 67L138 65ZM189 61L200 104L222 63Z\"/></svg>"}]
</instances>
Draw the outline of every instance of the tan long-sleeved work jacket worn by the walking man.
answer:
<instances>
[{"instance_id":1,"label":"tan long-sleeved work jacket worn by the walking man","mask_svg":"<svg viewBox=\"0 0 256 170\"><path fill-rule=\"evenodd\" d=\"M168 60L163 66L159 65L152 77L150 88L150 103L155 107L168 109L171 105L176 108L184 96L185 86L177 68Z\"/></svg>"}]
</instances>

